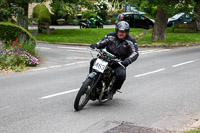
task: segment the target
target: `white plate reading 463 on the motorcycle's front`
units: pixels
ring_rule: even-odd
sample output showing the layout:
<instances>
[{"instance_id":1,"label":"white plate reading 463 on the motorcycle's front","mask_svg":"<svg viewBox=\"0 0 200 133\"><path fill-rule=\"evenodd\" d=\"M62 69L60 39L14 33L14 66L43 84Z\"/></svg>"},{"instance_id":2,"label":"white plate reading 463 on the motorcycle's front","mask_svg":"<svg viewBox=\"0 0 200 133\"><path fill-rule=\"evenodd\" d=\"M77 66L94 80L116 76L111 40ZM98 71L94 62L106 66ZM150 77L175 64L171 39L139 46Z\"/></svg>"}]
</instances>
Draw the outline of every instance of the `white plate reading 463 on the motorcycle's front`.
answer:
<instances>
[{"instance_id":1,"label":"white plate reading 463 on the motorcycle's front","mask_svg":"<svg viewBox=\"0 0 200 133\"><path fill-rule=\"evenodd\" d=\"M108 65L108 62L105 62L103 60L97 59L94 66L92 67L93 69L103 73L104 70L106 69L106 66Z\"/></svg>"}]
</instances>

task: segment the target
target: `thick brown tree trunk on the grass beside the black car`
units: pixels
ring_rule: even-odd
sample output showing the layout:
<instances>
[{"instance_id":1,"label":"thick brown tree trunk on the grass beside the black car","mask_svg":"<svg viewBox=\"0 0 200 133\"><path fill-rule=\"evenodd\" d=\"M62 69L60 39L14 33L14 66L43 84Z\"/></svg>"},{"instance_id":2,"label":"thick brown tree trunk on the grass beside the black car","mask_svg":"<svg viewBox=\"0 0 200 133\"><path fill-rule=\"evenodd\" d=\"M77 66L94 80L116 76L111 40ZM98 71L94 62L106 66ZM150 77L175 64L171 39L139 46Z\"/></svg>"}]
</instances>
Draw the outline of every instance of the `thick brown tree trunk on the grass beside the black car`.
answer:
<instances>
[{"instance_id":1,"label":"thick brown tree trunk on the grass beside the black car","mask_svg":"<svg viewBox=\"0 0 200 133\"><path fill-rule=\"evenodd\" d=\"M164 12L162 7L158 6L152 40L166 40L167 21L168 14Z\"/></svg>"}]
</instances>

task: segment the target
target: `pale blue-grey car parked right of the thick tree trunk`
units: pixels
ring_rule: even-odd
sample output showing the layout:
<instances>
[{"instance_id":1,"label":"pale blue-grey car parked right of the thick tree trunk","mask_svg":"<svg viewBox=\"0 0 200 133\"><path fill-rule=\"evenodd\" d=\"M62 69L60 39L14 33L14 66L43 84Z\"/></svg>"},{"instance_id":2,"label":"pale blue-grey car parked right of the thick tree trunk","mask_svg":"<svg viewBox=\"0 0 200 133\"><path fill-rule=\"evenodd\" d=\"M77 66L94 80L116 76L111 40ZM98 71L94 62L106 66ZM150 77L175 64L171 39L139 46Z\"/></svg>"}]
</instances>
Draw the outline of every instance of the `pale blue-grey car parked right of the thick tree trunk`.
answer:
<instances>
[{"instance_id":1,"label":"pale blue-grey car parked right of the thick tree trunk","mask_svg":"<svg viewBox=\"0 0 200 133\"><path fill-rule=\"evenodd\" d=\"M173 25L173 22L178 22L178 23L192 22L192 17L191 15L185 13L176 14L168 19L167 27L171 27Z\"/></svg>"}]
</instances>

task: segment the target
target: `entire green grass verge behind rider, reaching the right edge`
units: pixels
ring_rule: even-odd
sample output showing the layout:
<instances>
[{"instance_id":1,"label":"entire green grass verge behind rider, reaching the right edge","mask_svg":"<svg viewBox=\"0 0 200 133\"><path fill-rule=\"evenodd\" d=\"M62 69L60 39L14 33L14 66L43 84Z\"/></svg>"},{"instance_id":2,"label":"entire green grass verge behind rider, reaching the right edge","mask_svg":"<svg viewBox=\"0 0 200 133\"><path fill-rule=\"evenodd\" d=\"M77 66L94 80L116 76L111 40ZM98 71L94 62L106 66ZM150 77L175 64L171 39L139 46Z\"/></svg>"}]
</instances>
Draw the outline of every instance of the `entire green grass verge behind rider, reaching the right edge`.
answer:
<instances>
[{"instance_id":1,"label":"entire green grass verge behind rider, reaching the right edge","mask_svg":"<svg viewBox=\"0 0 200 133\"><path fill-rule=\"evenodd\" d=\"M38 41L50 43L78 43L92 44L101 40L105 35L115 29L56 29L54 33L47 35L40 33ZM131 28L130 35L137 39L139 46L190 46L200 44L200 32L174 33L172 28L167 28L166 38L163 41L152 41L152 30Z\"/></svg>"}]
</instances>

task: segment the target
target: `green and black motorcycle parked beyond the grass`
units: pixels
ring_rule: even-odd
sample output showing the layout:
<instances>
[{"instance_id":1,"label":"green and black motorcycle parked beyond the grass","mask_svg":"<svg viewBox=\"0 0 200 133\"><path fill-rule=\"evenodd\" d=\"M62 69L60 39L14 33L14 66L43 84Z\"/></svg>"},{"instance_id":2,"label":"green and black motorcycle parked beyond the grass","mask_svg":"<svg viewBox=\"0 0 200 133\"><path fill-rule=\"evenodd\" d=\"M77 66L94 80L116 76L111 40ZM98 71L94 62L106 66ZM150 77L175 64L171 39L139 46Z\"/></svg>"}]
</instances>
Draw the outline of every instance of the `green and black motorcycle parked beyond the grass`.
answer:
<instances>
[{"instance_id":1,"label":"green and black motorcycle parked beyond the grass","mask_svg":"<svg viewBox=\"0 0 200 133\"><path fill-rule=\"evenodd\" d=\"M89 20L80 20L80 29L84 28L103 28L103 20L99 16L97 18L90 18Z\"/></svg>"}]
</instances>

